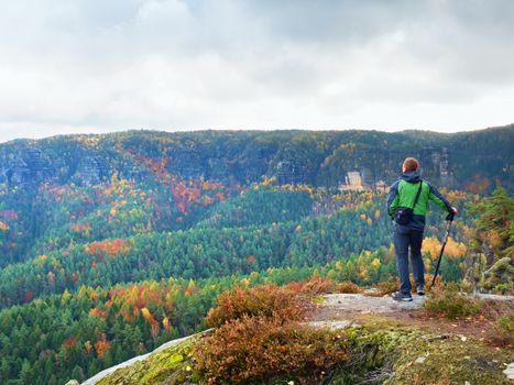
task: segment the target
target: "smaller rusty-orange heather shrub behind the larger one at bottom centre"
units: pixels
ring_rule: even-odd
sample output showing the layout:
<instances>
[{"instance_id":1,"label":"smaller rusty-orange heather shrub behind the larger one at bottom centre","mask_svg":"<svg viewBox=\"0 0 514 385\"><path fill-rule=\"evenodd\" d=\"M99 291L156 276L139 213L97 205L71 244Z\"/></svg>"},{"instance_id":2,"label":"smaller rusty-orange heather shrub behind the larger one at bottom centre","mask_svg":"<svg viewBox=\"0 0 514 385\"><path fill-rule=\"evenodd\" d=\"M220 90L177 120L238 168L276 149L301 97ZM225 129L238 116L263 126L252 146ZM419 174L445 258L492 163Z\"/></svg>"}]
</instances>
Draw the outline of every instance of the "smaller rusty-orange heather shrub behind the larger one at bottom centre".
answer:
<instances>
[{"instance_id":1,"label":"smaller rusty-orange heather shrub behind the larger one at bottom centre","mask_svg":"<svg viewBox=\"0 0 514 385\"><path fill-rule=\"evenodd\" d=\"M223 292L216 306L209 310L205 322L220 327L243 316L276 317L281 320L299 320L307 310L297 294L286 287L262 285L252 288L236 287Z\"/></svg>"}]
</instances>

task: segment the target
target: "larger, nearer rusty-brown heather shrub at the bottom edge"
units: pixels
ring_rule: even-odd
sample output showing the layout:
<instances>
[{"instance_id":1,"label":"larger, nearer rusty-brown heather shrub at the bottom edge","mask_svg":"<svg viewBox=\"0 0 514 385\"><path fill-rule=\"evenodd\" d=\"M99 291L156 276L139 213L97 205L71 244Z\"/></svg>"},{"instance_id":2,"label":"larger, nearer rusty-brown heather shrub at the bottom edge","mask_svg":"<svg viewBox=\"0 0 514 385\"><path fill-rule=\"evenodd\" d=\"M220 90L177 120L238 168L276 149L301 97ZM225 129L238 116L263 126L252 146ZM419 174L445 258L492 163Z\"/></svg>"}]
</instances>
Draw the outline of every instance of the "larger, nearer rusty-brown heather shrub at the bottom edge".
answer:
<instances>
[{"instance_id":1,"label":"larger, nearer rusty-brown heather shrub at the bottom edge","mask_svg":"<svg viewBox=\"0 0 514 385\"><path fill-rule=\"evenodd\" d=\"M281 374L319 378L346 360L348 349L340 331L243 316L216 329L194 354L208 383L242 383Z\"/></svg>"}]
</instances>

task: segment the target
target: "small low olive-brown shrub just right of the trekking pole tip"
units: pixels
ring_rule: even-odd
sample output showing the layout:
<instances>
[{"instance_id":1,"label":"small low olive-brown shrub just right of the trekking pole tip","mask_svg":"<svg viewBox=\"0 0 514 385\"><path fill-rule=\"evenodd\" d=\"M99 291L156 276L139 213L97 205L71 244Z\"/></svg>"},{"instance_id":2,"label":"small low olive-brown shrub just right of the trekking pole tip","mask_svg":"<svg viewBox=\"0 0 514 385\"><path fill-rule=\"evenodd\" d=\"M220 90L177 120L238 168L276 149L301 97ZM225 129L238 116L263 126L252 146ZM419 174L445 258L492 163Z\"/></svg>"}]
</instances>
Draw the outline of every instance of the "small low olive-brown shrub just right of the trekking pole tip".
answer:
<instances>
[{"instance_id":1,"label":"small low olive-brown shrub just right of the trekking pole tip","mask_svg":"<svg viewBox=\"0 0 514 385\"><path fill-rule=\"evenodd\" d=\"M455 283L445 287L436 285L423 306L428 311L438 312L448 319L473 316L480 310L480 301L461 294Z\"/></svg>"}]
</instances>

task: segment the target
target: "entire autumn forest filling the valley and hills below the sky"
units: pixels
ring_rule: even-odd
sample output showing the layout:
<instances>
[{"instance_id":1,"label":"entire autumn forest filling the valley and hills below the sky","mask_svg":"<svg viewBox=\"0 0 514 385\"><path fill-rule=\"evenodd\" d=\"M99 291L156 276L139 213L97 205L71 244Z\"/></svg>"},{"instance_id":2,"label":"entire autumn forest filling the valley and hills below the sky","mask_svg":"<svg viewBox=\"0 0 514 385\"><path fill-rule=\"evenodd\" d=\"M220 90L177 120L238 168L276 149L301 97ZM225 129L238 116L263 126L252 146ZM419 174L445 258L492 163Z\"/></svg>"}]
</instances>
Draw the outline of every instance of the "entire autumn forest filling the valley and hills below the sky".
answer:
<instances>
[{"instance_id":1,"label":"entire autumn forest filling the valley and hills below the sky","mask_svg":"<svg viewBox=\"0 0 514 385\"><path fill-rule=\"evenodd\" d=\"M393 182L413 152L461 212L442 278L508 293L512 282L483 272L514 258L513 140L506 127L132 131L0 144L0 383L84 381L206 329L231 287L391 282L393 227L376 183ZM360 186L347 184L349 172ZM433 273L446 213L430 209L423 254Z\"/></svg>"}]
</instances>

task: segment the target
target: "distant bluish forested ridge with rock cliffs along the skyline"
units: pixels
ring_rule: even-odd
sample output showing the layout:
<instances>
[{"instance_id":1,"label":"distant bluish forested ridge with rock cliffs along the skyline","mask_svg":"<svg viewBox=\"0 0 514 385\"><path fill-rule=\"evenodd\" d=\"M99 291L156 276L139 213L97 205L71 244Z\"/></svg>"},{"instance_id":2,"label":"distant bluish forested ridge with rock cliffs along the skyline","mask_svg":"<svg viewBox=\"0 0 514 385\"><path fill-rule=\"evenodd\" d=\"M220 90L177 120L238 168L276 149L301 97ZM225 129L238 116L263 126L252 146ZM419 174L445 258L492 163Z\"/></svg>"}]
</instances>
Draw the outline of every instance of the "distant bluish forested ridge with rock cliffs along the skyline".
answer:
<instances>
[{"instance_id":1,"label":"distant bluish forested ridge with rock cliffs along the skyline","mask_svg":"<svg viewBox=\"0 0 514 385\"><path fill-rule=\"evenodd\" d=\"M112 175L146 180L167 172L241 185L265 175L278 184L338 187L348 184L348 173L357 173L364 187L373 187L394 180L408 155L418 157L425 177L437 184L462 188L474 182L486 188L499 178L512 187L513 147L514 125L453 134L209 130L62 135L0 144L0 182L95 185Z\"/></svg>"}]
</instances>

